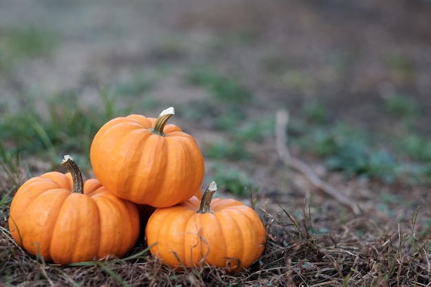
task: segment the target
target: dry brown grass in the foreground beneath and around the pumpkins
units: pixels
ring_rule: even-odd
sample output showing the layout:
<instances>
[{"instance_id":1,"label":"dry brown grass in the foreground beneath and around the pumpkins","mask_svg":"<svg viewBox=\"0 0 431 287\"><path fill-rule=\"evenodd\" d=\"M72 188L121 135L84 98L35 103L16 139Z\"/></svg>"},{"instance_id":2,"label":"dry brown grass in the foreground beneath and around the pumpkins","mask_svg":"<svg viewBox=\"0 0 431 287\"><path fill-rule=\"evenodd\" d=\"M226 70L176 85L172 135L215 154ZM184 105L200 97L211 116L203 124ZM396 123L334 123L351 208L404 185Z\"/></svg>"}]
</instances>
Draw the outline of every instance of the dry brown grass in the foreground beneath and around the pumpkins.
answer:
<instances>
[{"instance_id":1,"label":"dry brown grass in the foreground beneath and around the pumpkins","mask_svg":"<svg viewBox=\"0 0 431 287\"><path fill-rule=\"evenodd\" d=\"M178 272L138 244L123 259L58 266L30 257L8 231L2 210L0 278L3 286L430 286L430 237L417 237L417 214L406 230L376 235L366 217L340 224L337 214L313 220L305 206L295 217L281 206L263 211L266 250L248 270L234 275L198 266ZM333 222L339 226L318 233ZM365 233L359 231L365 230ZM383 232L383 231L381 231Z\"/></svg>"}]
</instances>

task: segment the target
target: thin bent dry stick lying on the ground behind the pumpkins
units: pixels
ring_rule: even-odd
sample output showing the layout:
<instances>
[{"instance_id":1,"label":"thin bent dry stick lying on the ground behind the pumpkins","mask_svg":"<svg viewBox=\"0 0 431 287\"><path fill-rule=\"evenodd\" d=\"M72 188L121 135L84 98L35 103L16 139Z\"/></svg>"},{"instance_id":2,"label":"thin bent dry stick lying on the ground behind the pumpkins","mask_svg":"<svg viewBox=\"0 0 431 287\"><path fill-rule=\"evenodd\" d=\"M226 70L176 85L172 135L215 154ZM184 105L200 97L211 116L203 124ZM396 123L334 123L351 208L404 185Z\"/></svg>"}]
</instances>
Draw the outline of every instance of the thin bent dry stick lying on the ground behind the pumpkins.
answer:
<instances>
[{"instance_id":1,"label":"thin bent dry stick lying on the ground behind the pumpkins","mask_svg":"<svg viewBox=\"0 0 431 287\"><path fill-rule=\"evenodd\" d=\"M359 206L352 202L349 198L346 197L340 191L337 191L334 187L331 187L329 184L324 182L317 176L315 171L308 166L308 164L298 160L291 156L291 153L287 147L287 125L288 125L288 111L280 110L277 111L277 119L275 123L275 144L277 145L277 153L280 159L284 162L284 164L288 165L295 169L296 171L301 172L315 187L322 190L324 193L330 195L335 200L348 206L355 215L361 214L361 209Z\"/></svg>"}]
</instances>

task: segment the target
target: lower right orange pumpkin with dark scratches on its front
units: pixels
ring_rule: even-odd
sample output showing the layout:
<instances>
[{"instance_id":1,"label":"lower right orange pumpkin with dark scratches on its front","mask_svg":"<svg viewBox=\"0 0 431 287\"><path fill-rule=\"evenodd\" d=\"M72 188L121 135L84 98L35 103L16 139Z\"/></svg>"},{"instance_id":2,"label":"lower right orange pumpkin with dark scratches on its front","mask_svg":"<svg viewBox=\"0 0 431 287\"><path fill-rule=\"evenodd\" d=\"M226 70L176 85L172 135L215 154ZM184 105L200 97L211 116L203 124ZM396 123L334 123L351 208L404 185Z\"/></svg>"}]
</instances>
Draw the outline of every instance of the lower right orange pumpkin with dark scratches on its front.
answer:
<instances>
[{"instance_id":1,"label":"lower right orange pumpkin with dark scratches on its front","mask_svg":"<svg viewBox=\"0 0 431 287\"><path fill-rule=\"evenodd\" d=\"M262 255L266 233L260 217L237 200L215 198L211 182L202 200L156 209L145 237L152 255L171 268L208 264L236 272Z\"/></svg>"}]
</instances>

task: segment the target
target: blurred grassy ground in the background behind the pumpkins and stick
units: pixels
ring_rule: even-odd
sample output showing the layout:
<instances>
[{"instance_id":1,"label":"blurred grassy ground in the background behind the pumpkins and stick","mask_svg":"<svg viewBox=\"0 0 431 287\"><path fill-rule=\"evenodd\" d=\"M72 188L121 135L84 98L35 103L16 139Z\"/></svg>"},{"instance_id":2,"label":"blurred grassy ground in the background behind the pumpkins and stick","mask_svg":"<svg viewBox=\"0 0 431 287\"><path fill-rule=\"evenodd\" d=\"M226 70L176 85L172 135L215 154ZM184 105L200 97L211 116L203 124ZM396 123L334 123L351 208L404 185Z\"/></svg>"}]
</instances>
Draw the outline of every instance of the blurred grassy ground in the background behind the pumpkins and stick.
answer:
<instances>
[{"instance_id":1,"label":"blurred grassy ground in the background behind the pumpkins and stick","mask_svg":"<svg viewBox=\"0 0 431 287\"><path fill-rule=\"evenodd\" d=\"M27 174L70 153L91 175L103 123L174 106L205 182L295 195L282 108L292 153L322 176L428 184L430 91L430 1L0 0L1 153Z\"/></svg>"}]
</instances>

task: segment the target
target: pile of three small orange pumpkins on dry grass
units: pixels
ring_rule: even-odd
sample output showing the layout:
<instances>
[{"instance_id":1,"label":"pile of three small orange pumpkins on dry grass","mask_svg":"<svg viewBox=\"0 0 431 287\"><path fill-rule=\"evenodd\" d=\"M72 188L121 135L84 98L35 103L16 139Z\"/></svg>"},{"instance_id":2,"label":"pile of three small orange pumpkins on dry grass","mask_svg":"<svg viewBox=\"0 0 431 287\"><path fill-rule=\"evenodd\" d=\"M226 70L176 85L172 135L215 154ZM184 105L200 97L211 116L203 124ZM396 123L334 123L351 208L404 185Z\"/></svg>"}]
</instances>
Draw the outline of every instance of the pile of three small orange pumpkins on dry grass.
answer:
<instances>
[{"instance_id":1,"label":"pile of three small orange pumpkins on dry grass","mask_svg":"<svg viewBox=\"0 0 431 287\"><path fill-rule=\"evenodd\" d=\"M69 173L31 178L10 205L14 240L56 264L123 257L145 234L150 252L176 269L200 264L236 272L262 255L266 233L249 206L202 194L204 159L196 140L158 118L132 114L105 123L94 136L84 181L65 156ZM145 222L145 223L144 223Z\"/></svg>"}]
</instances>

